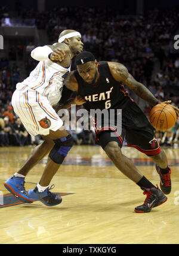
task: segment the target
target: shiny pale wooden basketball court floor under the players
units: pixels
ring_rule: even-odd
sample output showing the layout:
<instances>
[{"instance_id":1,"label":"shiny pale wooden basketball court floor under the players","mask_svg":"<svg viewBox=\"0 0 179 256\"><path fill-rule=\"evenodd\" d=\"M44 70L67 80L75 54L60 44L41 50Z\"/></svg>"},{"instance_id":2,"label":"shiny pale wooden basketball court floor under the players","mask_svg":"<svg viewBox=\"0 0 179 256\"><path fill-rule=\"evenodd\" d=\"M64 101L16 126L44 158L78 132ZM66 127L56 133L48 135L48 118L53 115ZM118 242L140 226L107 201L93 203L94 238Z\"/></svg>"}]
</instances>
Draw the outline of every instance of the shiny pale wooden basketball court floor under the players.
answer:
<instances>
[{"instance_id":1,"label":"shiny pale wooden basketball court floor under the players","mask_svg":"<svg viewBox=\"0 0 179 256\"><path fill-rule=\"evenodd\" d=\"M0 147L0 243L120 244L179 243L179 149L165 149L172 170L166 203L150 213L135 213L146 198L99 146L73 146L51 184L63 201L47 207L36 201L17 204L3 183L33 147ZM136 149L122 151L159 185L155 165ZM44 159L26 178L26 189L39 182ZM7 206L7 207L4 207Z\"/></svg>"}]
</instances>

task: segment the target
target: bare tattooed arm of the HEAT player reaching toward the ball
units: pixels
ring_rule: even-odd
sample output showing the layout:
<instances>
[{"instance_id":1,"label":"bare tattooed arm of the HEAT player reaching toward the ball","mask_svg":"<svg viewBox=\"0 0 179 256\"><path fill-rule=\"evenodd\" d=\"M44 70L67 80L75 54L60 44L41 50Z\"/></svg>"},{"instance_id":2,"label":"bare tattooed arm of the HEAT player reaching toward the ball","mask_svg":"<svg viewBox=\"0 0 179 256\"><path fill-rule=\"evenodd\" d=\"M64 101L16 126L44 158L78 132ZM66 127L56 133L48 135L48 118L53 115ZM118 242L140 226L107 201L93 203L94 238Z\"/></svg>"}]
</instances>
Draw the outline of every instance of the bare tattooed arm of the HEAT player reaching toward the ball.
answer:
<instances>
[{"instance_id":1,"label":"bare tattooed arm of the HEAT player reaching toward the ball","mask_svg":"<svg viewBox=\"0 0 179 256\"><path fill-rule=\"evenodd\" d=\"M138 97L142 98L144 101L147 101L152 106L161 103L155 96L146 88L142 83L137 82L131 74L128 73L126 67L117 62L108 62L110 72L113 78L118 81L124 83L124 85L128 86Z\"/></svg>"}]
</instances>

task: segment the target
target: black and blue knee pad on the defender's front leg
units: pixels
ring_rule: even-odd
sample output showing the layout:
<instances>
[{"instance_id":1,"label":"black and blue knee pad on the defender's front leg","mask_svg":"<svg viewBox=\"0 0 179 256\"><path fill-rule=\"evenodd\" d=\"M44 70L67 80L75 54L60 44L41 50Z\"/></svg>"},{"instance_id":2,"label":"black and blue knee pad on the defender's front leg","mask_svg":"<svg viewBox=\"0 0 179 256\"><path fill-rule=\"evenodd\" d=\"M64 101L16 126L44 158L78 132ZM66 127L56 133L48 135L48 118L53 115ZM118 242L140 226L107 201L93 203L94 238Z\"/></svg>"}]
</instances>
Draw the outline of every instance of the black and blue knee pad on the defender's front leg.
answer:
<instances>
[{"instance_id":1,"label":"black and blue knee pad on the defender's front leg","mask_svg":"<svg viewBox=\"0 0 179 256\"><path fill-rule=\"evenodd\" d=\"M73 146L73 138L71 135L67 135L67 137L58 138L57 140L54 140L54 143L55 145L51 150L49 157L56 164L62 164L67 153Z\"/></svg>"}]
</instances>

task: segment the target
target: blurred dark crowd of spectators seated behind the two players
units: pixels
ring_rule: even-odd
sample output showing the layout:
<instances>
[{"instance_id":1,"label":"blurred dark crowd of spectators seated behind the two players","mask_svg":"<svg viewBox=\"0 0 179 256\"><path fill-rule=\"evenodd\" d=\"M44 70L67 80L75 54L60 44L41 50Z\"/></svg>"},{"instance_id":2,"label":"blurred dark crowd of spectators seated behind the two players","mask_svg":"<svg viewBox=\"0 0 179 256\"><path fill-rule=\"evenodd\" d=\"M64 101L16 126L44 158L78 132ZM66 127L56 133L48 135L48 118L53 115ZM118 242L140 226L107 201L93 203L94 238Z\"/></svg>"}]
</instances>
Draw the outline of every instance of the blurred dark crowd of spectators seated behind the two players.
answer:
<instances>
[{"instance_id":1,"label":"blurred dark crowd of spectators seated behind the two players","mask_svg":"<svg viewBox=\"0 0 179 256\"><path fill-rule=\"evenodd\" d=\"M8 10L1 8L1 17ZM110 8L54 8L38 13L20 11L22 19L35 19L38 29L47 32L49 44L57 42L64 29L81 32L84 50L94 54L98 61L115 61L124 64L138 82L143 83L160 101L179 103L179 55L174 51L174 35L179 24L179 9L152 10L139 17L121 17ZM30 58L36 47L33 42L26 46L10 45L9 59L0 59L0 146L24 146L39 144L41 136L27 134L20 119L13 112L11 97L17 82L21 82L20 68L14 61L23 58L26 50L26 76L38 62ZM14 61L14 62L13 62ZM13 62L13 65L10 65ZM75 67L72 67L72 70ZM132 96L132 92L129 91ZM136 100L135 100L136 101ZM152 106L143 108L149 117ZM94 144L94 128L70 131L76 144ZM156 131L161 144L173 146L178 143L178 123L167 132Z\"/></svg>"}]
</instances>

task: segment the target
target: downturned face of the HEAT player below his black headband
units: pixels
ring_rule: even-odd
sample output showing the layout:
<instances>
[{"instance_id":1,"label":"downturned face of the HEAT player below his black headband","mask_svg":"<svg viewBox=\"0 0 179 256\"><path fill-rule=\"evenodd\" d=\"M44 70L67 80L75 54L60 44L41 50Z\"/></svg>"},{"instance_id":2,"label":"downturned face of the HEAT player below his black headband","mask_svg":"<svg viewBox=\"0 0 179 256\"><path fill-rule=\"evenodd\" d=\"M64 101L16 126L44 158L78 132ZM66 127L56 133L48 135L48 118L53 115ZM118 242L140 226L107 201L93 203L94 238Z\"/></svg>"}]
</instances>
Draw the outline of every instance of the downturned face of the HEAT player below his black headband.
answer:
<instances>
[{"instance_id":1,"label":"downturned face of the HEAT player below his black headband","mask_svg":"<svg viewBox=\"0 0 179 256\"><path fill-rule=\"evenodd\" d=\"M94 85L97 82L99 75L97 65L97 61L89 61L85 64L77 65L79 76L90 85Z\"/></svg>"}]
</instances>

